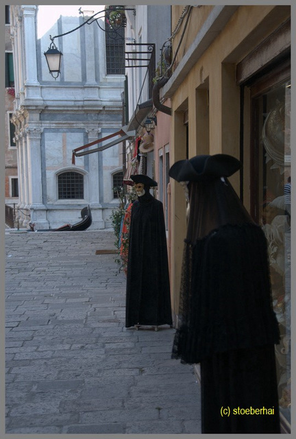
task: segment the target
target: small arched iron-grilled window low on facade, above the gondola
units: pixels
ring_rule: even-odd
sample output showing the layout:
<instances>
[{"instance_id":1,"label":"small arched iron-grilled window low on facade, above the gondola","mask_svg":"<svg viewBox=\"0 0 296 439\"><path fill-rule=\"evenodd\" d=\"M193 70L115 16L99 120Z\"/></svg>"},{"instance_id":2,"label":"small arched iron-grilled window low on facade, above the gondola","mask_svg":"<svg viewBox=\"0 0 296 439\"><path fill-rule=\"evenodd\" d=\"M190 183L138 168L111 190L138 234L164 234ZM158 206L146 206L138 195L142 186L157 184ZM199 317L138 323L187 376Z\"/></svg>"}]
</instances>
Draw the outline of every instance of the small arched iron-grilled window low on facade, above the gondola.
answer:
<instances>
[{"instance_id":1,"label":"small arched iron-grilled window low on facade, above the gondola","mask_svg":"<svg viewBox=\"0 0 296 439\"><path fill-rule=\"evenodd\" d=\"M58 198L82 199L84 198L84 176L79 172L63 172L58 176Z\"/></svg>"}]
</instances>

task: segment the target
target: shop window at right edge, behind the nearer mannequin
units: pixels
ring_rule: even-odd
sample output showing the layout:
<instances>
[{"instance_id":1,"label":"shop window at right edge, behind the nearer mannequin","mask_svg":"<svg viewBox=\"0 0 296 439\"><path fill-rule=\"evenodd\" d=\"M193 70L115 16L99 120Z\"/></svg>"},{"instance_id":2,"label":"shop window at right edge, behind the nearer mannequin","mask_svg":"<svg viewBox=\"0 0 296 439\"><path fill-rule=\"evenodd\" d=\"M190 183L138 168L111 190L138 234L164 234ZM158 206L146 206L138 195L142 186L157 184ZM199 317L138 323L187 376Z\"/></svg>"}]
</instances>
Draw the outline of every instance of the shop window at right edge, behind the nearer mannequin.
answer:
<instances>
[{"instance_id":1,"label":"shop window at right edge, behind the nearer mannequin","mask_svg":"<svg viewBox=\"0 0 296 439\"><path fill-rule=\"evenodd\" d=\"M269 84L271 79L269 76ZM282 423L291 423L291 82L260 91L254 84L251 211L267 237L273 309L281 341L275 346ZM288 431L288 428L287 428Z\"/></svg>"}]
</instances>

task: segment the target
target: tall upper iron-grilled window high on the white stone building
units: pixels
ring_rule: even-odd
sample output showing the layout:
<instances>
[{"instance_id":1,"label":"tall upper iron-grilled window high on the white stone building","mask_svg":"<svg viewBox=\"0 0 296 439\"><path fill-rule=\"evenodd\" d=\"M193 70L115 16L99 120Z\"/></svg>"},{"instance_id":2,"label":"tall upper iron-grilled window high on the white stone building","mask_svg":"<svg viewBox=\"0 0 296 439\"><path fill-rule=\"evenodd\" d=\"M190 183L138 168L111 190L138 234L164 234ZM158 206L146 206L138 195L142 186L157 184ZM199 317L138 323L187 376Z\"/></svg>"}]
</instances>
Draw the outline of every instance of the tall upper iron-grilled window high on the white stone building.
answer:
<instances>
[{"instance_id":1,"label":"tall upper iron-grilled window high on the white stone building","mask_svg":"<svg viewBox=\"0 0 296 439\"><path fill-rule=\"evenodd\" d=\"M124 54L124 28L121 27L113 33L106 32L106 68L107 75L124 75L125 73L125 54Z\"/></svg>"}]
</instances>

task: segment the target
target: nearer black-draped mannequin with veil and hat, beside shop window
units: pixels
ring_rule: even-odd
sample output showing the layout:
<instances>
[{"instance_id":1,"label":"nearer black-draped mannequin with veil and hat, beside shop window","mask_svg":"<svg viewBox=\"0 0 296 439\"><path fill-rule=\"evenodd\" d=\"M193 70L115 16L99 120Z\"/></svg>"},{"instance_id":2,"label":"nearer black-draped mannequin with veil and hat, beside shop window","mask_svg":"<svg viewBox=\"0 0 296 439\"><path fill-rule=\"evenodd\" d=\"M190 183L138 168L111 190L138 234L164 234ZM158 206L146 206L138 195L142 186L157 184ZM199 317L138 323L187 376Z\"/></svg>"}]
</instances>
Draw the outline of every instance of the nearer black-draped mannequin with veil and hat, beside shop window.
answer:
<instances>
[{"instance_id":1,"label":"nearer black-draped mannequin with veil and hat, beside shop window","mask_svg":"<svg viewBox=\"0 0 296 439\"><path fill-rule=\"evenodd\" d=\"M169 171L190 200L172 357L200 363L202 433L280 433L267 241L227 180L240 167L216 154Z\"/></svg>"}]
</instances>

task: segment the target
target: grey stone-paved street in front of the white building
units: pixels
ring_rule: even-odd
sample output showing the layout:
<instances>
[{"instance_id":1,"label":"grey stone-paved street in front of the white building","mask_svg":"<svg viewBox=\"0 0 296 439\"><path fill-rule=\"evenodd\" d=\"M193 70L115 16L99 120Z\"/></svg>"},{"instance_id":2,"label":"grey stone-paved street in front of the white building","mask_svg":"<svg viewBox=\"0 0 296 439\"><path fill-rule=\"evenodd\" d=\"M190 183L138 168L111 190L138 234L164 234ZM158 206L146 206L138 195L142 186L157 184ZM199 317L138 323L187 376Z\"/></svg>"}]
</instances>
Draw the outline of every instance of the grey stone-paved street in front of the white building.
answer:
<instances>
[{"instance_id":1,"label":"grey stone-paved street in front of the white building","mask_svg":"<svg viewBox=\"0 0 296 439\"><path fill-rule=\"evenodd\" d=\"M125 328L110 230L6 233L6 433L199 434L174 329Z\"/></svg>"}]
</instances>

